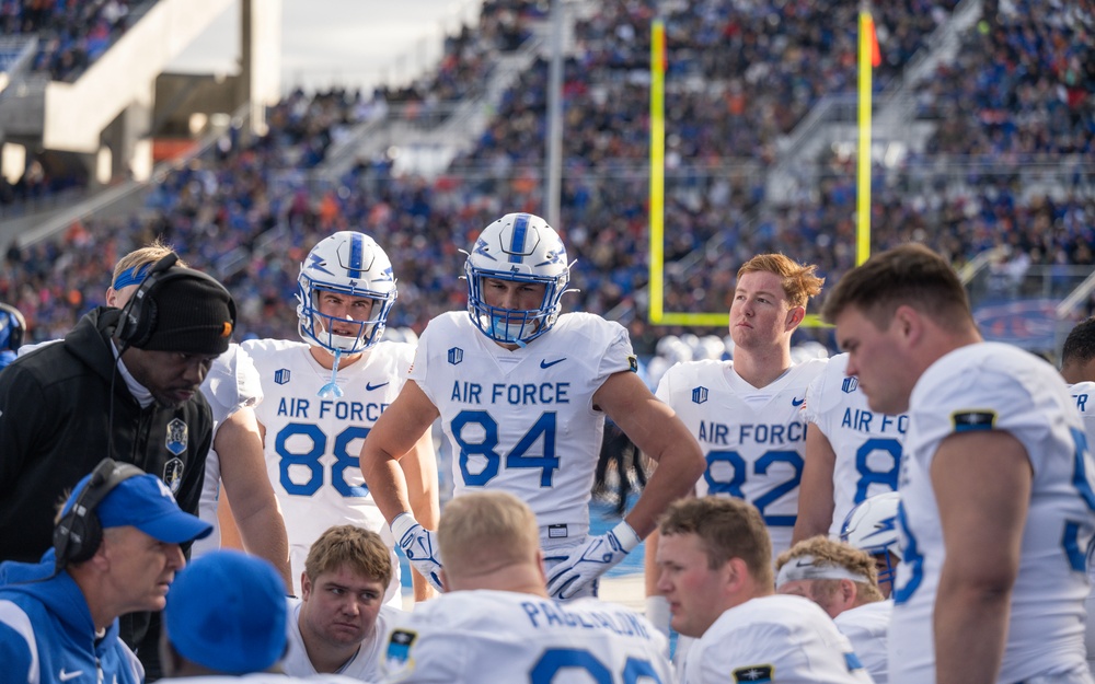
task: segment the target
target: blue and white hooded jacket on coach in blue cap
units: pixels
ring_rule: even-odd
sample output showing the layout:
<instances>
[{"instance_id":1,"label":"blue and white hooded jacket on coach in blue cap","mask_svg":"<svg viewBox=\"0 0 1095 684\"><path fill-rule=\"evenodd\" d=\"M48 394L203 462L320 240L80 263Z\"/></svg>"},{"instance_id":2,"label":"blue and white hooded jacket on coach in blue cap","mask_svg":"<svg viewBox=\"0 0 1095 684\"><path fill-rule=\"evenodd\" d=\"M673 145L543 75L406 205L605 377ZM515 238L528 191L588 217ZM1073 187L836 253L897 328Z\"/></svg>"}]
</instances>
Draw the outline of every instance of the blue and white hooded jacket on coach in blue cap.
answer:
<instances>
[{"instance_id":1,"label":"blue and white hooded jacket on coach in blue cap","mask_svg":"<svg viewBox=\"0 0 1095 684\"><path fill-rule=\"evenodd\" d=\"M0 564L0 684L141 684L118 621L96 639L83 592L53 572L53 549L38 564Z\"/></svg>"}]
</instances>

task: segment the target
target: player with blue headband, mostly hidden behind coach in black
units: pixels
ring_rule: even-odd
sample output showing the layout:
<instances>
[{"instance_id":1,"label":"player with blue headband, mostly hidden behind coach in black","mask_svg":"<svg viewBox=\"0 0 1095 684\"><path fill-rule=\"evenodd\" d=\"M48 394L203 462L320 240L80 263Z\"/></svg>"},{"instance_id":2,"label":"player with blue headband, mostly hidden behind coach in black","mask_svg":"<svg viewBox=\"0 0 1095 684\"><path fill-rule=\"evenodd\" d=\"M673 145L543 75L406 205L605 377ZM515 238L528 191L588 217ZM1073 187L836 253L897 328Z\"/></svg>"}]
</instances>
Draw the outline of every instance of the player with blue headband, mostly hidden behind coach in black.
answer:
<instances>
[{"instance_id":1,"label":"player with blue headband, mostly hidden behind coach in black","mask_svg":"<svg viewBox=\"0 0 1095 684\"><path fill-rule=\"evenodd\" d=\"M122 309L140 286L153 264L173 254L173 250L159 241L134 250L114 266L106 303ZM185 262L176 262L185 266ZM41 345L26 345L20 355L33 351ZM217 357L201 383L201 394L212 409L212 447L206 456L205 478L198 515L214 526L208 537L191 547L191 559L197 558L221 544L221 529L231 530L242 547L266 560L277 569L291 587L289 577L289 543L285 523L277 508L277 499L266 477L262 452L262 438L254 407L262 402L258 374L246 353L238 345ZM230 454L222 459L221 454ZM228 512L227 500L220 498L221 486L234 501Z\"/></svg>"}]
</instances>

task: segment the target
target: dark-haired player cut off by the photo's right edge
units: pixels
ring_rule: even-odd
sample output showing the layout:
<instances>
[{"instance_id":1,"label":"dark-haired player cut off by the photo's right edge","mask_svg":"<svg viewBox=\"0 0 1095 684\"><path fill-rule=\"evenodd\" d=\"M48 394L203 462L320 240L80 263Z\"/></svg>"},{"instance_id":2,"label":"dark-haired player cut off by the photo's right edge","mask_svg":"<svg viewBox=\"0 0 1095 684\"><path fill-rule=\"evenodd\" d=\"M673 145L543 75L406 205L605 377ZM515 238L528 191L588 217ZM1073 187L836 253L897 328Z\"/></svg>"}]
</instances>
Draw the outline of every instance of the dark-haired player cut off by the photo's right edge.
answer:
<instances>
[{"instance_id":1,"label":"dark-haired player cut off by the photo's right edge","mask_svg":"<svg viewBox=\"0 0 1095 684\"><path fill-rule=\"evenodd\" d=\"M1069 332L1061 348L1061 376L1070 384L1080 417L1087 434L1087 445L1095 444L1095 317L1085 318ZM1092 590L1087 594L1087 627L1084 641L1087 648L1087 668L1095 675L1095 546L1088 549L1087 579Z\"/></svg>"}]
</instances>

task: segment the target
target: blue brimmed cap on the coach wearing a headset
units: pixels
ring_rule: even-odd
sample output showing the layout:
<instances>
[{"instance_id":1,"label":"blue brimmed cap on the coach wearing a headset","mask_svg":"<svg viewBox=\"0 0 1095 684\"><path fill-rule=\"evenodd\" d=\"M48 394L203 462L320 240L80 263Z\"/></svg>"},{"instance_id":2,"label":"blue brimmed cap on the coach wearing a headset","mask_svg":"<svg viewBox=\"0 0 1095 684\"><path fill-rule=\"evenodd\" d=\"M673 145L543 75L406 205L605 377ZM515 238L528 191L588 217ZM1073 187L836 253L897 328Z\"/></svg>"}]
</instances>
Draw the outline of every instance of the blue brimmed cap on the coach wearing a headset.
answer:
<instances>
[{"instance_id":1,"label":"blue brimmed cap on the coach wearing a headset","mask_svg":"<svg viewBox=\"0 0 1095 684\"><path fill-rule=\"evenodd\" d=\"M90 479L91 475L85 475L77 483L65 502L62 514L69 512ZM149 474L128 477L115 485L95 507L95 517L104 530L132 525L150 537L168 544L200 540L212 532L212 525L178 508L168 485Z\"/></svg>"}]
</instances>

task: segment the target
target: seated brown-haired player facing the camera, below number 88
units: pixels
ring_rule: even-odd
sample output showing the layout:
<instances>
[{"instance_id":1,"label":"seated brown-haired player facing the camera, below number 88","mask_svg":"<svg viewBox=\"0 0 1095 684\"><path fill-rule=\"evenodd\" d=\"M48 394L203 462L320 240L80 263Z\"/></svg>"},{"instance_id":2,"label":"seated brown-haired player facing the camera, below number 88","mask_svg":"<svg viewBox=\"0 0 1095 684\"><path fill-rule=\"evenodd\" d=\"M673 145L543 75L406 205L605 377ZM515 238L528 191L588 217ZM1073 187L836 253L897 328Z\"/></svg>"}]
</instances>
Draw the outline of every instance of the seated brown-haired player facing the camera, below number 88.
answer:
<instances>
[{"instance_id":1,"label":"seated brown-haired player facing the camera, below number 88","mask_svg":"<svg viewBox=\"0 0 1095 684\"><path fill-rule=\"evenodd\" d=\"M335 673L371 682L384 637L403 612L382 605L394 572L380 535L337 525L312 544L301 598L288 599L286 674Z\"/></svg>"}]
</instances>

